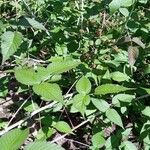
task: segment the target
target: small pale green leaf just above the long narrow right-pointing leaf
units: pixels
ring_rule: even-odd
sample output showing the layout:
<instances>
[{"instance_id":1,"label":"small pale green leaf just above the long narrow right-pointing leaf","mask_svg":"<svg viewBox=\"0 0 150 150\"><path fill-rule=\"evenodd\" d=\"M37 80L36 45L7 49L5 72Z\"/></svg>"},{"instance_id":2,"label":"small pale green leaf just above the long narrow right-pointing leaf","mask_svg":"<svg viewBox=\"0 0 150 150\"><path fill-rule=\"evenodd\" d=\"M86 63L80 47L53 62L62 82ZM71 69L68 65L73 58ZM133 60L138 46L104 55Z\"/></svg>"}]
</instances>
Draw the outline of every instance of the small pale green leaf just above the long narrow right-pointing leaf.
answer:
<instances>
[{"instance_id":1,"label":"small pale green leaf just above the long narrow right-pointing leaf","mask_svg":"<svg viewBox=\"0 0 150 150\"><path fill-rule=\"evenodd\" d=\"M114 80L114 81L118 81L118 82L121 82L121 81L128 81L130 79L129 76L127 76L126 74L122 73L122 72L119 72L119 71L116 71L116 72L113 72L111 73L111 78Z\"/></svg>"}]
</instances>

